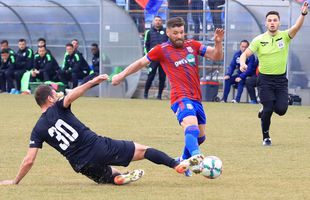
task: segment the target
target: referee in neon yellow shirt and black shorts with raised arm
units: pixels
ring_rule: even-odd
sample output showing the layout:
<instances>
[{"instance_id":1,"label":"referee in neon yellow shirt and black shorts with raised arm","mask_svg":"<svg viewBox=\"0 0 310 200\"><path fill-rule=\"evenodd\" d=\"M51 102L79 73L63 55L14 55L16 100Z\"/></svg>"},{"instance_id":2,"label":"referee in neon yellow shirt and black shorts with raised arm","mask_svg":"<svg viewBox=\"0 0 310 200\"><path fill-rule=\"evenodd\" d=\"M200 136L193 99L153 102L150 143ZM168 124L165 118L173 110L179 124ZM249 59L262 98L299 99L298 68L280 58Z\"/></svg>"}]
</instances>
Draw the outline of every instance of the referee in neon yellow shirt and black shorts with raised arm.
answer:
<instances>
[{"instance_id":1,"label":"referee in neon yellow shirt and black shorts with raised arm","mask_svg":"<svg viewBox=\"0 0 310 200\"><path fill-rule=\"evenodd\" d=\"M295 24L280 31L280 15L277 11L266 14L267 31L253 39L250 46L240 56L241 70L245 71L246 58L256 53L259 60L258 91L263 108L259 111L263 133L263 146L271 145L269 127L272 113L282 116L288 108L288 80L286 65L291 39L295 37L308 14L308 3L304 2Z\"/></svg>"}]
</instances>

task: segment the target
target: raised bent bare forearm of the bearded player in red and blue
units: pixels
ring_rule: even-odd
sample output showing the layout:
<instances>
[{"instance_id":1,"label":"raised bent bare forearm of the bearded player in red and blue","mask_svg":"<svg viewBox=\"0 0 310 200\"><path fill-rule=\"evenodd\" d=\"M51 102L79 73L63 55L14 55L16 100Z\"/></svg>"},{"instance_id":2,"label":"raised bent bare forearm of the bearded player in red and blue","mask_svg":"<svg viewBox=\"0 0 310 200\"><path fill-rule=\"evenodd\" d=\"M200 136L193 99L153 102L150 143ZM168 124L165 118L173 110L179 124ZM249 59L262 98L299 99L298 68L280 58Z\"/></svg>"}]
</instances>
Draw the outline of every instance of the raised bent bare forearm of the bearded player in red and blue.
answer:
<instances>
[{"instance_id":1,"label":"raised bent bare forearm of the bearded player in red and blue","mask_svg":"<svg viewBox=\"0 0 310 200\"><path fill-rule=\"evenodd\" d=\"M223 59L224 30L217 28L214 33L214 47L208 47L204 57L214 61Z\"/></svg>"}]
</instances>

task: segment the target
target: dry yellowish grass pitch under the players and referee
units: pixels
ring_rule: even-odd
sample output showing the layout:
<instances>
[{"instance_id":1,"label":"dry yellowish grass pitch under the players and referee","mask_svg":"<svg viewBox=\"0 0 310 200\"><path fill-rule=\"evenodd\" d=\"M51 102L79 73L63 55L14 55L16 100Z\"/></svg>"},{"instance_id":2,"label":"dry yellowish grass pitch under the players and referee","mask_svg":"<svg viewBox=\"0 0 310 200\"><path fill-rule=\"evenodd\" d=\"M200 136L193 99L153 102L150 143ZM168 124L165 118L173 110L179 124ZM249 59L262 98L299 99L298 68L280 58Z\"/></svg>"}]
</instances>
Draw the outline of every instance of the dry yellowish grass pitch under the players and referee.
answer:
<instances>
[{"instance_id":1,"label":"dry yellowish grass pitch under the players and referee","mask_svg":"<svg viewBox=\"0 0 310 200\"><path fill-rule=\"evenodd\" d=\"M18 186L0 186L0 199L310 199L309 107L272 118L272 147L262 147L258 105L204 103L206 155L223 161L220 178L183 177L149 161L132 163L145 176L126 186L97 185L76 174L47 144ZM81 98L73 112L95 132L180 155L183 133L168 101ZM32 96L0 95L0 180L15 177L40 110ZM127 170L120 168L122 170Z\"/></svg>"}]
</instances>

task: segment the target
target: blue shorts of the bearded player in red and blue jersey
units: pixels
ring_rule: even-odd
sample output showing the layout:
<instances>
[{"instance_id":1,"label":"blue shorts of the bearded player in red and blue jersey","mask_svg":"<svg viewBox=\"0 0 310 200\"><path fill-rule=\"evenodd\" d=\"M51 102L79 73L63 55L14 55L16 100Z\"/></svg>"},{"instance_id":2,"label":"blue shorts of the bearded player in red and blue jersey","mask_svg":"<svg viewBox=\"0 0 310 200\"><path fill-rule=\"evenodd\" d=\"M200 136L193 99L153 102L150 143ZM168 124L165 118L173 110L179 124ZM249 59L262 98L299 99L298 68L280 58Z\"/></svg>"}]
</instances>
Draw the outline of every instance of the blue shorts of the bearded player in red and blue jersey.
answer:
<instances>
[{"instance_id":1,"label":"blue shorts of the bearded player in red and blue jersey","mask_svg":"<svg viewBox=\"0 0 310 200\"><path fill-rule=\"evenodd\" d=\"M177 116L180 124L187 116L196 116L198 124L206 124L206 114L199 101L184 98L172 104L171 109Z\"/></svg>"}]
</instances>

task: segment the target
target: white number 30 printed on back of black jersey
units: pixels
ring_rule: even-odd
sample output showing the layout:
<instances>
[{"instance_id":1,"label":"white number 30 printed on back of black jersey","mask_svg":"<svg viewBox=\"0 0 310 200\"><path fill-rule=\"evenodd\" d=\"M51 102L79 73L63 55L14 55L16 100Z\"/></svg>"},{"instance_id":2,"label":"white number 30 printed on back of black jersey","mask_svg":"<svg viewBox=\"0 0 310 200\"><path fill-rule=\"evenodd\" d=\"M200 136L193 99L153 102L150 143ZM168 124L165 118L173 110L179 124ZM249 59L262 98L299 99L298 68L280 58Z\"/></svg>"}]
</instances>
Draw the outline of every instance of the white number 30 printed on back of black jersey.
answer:
<instances>
[{"instance_id":1,"label":"white number 30 printed on back of black jersey","mask_svg":"<svg viewBox=\"0 0 310 200\"><path fill-rule=\"evenodd\" d=\"M70 142L74 142L78 138L78 132L62 119L58 119L55 126L48 129L48 134L61 142L59 144L62 150L66 150L70 146Z\"/></svg>"}]
</instances>

